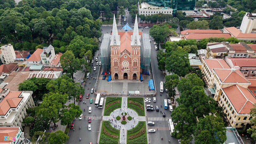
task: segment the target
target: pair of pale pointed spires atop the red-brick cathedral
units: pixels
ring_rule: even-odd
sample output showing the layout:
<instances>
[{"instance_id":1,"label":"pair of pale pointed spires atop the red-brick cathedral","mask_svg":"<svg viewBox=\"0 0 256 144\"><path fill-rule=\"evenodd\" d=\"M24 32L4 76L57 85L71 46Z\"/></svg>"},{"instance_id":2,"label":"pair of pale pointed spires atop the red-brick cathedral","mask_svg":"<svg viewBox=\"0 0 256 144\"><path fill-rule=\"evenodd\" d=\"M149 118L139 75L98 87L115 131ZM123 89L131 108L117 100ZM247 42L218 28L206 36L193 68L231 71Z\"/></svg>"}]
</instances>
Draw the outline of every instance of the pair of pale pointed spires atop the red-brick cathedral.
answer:
<instances>
[{"instance_id":1,"label":"pair of pale pointed spires atop the red-brick cathedral","mask_svg":"<svg viewBox=\"0 0 256 144\"><path fill-rule=\"evenodd\" d=\"M137 20L137 15L136 15L132 39L131 39L131 46L140 46L140 38L141 37L139 35L138 20ZM112 27L112 35L111 35L110 45L111 46L120 46L120 35L118 35L115 15L113 17L113 27Z\"/></svg>"}]
</instances>

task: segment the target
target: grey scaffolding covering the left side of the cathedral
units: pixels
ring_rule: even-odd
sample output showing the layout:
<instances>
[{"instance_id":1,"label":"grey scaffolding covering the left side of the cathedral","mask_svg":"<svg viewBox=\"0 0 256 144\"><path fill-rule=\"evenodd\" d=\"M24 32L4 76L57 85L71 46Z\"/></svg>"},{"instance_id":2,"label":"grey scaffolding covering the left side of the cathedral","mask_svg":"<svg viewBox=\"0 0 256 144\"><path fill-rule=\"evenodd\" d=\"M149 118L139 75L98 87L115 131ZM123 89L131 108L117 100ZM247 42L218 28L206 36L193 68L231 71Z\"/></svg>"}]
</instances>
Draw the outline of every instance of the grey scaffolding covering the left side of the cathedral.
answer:
<instances>
[{"instance_id":1,"label":"grey scaffolding covering the left side of the cathedral","mask_svg":"<svg viewBox=\"0 0 256 144\"><path fill-rule=\"evenodd\" d=\"M110 56L111 56L110 34L104 34L103 41L100 46L101 67L102 67L102 74L104 75L109 73L109 69L111 66Z\"/></svg>"}]
</instances>

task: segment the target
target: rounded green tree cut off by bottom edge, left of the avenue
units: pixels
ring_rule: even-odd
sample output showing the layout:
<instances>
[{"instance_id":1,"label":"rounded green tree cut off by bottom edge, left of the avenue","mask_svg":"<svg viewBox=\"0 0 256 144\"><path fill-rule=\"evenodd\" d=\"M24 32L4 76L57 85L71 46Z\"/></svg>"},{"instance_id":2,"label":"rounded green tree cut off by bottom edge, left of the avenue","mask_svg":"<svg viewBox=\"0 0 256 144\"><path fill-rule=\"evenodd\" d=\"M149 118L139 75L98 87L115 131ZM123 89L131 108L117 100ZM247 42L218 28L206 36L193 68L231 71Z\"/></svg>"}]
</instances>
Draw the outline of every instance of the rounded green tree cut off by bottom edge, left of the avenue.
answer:
<instances>
[{"instance_id":1,"label":"rounded green tree cut off by bottom edge, left of the avenue","mask_svg":"<svg viewBox=\"0 0 256 144\"><path fill-rule=\"evenodd\" d=\"M63 144L66 143L69 136L63 133L63 131L58 130L55 133L51 133L48 137L49 144Z\"/></svg>"}]
</instances>

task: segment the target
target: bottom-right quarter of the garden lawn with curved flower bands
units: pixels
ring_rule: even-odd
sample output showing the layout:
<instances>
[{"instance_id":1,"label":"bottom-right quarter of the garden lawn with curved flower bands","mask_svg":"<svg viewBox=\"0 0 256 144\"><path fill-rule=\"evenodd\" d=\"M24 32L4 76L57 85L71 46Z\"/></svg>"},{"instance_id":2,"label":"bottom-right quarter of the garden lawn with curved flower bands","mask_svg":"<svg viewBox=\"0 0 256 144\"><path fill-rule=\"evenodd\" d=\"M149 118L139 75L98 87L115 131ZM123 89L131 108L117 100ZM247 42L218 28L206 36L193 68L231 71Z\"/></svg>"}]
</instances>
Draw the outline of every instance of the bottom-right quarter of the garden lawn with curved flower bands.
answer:
<instances>
[{"instance_id":1,"label":"bottom-right quarter of the garden lawn with curved flower bands","mask_svg":"<svg viewBox=\"0 0 256 144\"><path fill-rule=\"evenodd\" d=\"M139 121L138 125L127 130L127 144L147 144L146 122Z\"/></svg>"}]
</instances>

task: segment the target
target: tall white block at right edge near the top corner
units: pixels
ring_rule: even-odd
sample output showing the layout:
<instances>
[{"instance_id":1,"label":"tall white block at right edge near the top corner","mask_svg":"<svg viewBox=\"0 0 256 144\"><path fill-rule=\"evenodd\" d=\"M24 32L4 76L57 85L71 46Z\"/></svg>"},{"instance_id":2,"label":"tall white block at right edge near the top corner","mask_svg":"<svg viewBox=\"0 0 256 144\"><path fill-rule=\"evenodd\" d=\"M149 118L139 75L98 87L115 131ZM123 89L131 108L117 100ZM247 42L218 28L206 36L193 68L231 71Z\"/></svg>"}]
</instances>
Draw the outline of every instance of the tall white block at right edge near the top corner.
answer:
<instances>
[{"instance_id":1,"label":"tall white block at right edge near the top corner","mask_svg":"<svg viewBox=\"0 0 256 144\"><path fill-rule=\"evenodd\" d=\"M240 26L240 30L244 34L256 32L256 13L246 13Z\"/></svg>"}]
</instances>

